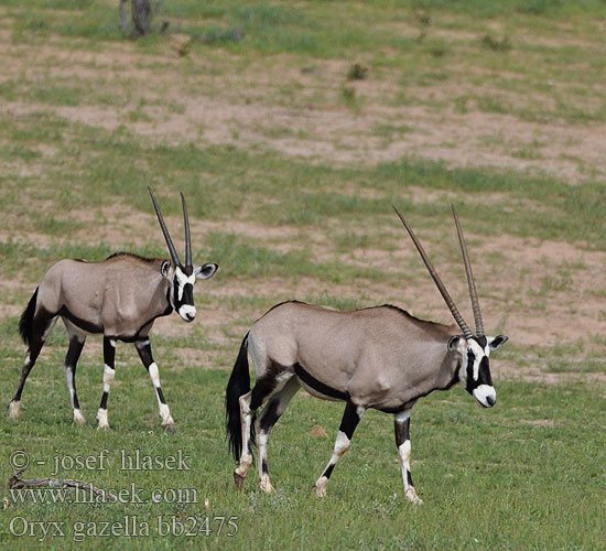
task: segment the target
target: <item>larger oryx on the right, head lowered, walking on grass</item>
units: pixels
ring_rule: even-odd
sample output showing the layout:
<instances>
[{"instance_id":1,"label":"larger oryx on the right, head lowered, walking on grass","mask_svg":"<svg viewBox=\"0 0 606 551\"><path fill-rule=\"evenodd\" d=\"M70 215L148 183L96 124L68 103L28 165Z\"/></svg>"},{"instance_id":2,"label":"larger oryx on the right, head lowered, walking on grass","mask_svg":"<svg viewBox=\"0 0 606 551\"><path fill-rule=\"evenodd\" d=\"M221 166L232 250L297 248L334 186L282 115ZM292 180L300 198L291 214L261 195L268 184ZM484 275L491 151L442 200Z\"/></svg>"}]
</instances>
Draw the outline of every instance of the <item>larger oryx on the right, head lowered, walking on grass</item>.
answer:
<instances>
[{"instance_id":1,"label":"larger oryx on the right, head lowered, walking on grass","mask_svg":"<svg viewBox=\"0 0 606 551\"><path fill-rule=\"evenodd\" d=\"M346 403L333 455L315 483L320 497L326 495L331 473L349 447L365 410L393 413L404 494L410 501L420 504L410 473L410 413L416 400L433 390L447 390L458 381L480 406L495 404L488 357L508 337L484 334L472 267L454 206L476 335L463 320L416 236L396 212L463 334L454 324L419 320L388 304L353 312L296 301L273 306L245 336L226 390L227 434L238 462L234 471L238 488L252 463L251 439L256 435L259 485L267 493L273 489L267 464L268 436L300 387L317 398ZM256 374L252 390L248 353ZM256 418L255 412L267 399L267 406Z\"/></svg>"}]
</instances>

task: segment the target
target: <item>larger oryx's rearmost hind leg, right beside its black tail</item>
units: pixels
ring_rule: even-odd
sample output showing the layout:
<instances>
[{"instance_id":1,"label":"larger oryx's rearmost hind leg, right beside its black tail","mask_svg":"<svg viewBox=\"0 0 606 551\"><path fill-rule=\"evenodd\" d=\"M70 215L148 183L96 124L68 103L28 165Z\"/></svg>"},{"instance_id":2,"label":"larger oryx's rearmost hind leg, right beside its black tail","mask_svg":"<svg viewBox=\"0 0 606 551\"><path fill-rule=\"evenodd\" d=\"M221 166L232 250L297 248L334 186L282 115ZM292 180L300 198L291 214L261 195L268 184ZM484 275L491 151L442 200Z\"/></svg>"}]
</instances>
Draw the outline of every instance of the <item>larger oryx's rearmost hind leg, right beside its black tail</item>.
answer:
<instances>
[{"instance_id":1,"label":"larger oryx's rearmost hind leg, right beside its black tail","mask_svg":"<svg viewBox=\"0 0 606 551\"><path fill-rule=\"evenodd\" d=\"M241 487L250 465L252 465L251 442L255 412L268 398L282 390L293 375L292 371L288 371L285 368L267 369L266 372L257 379L252 390L239 398L242 428L242 452L238 466L234 469L234 480L238 488Z\"/></svg>"}]
</instances>

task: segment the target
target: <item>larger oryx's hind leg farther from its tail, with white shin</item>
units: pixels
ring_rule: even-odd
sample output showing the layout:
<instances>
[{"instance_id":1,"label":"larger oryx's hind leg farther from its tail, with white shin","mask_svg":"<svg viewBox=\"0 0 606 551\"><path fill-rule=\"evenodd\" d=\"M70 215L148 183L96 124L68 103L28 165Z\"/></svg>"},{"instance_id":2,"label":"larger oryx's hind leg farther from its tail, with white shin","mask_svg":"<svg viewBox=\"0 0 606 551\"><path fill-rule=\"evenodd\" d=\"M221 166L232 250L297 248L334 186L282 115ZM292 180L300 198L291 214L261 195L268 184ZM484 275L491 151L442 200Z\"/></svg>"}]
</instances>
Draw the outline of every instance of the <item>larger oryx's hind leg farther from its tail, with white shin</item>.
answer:
<instances>
[{"instance_id":1,"label":"larger oryx's hind leg farther from its tail, with white shin","mask_svg":"<svg viewBox=\"0 0 606 551\"><path fill-rule=\"evenodd\" d=\"M289 379L284 388L275 392L268 401L263 411L255 422L255 433L257 440L257 463L259 467L259 487L266 494L273 491L273 486L269 479L267 444L269 433L278 422L284 410L288 408L292 397L301 388L296 377Z\"/></svg>"}]
</instances>

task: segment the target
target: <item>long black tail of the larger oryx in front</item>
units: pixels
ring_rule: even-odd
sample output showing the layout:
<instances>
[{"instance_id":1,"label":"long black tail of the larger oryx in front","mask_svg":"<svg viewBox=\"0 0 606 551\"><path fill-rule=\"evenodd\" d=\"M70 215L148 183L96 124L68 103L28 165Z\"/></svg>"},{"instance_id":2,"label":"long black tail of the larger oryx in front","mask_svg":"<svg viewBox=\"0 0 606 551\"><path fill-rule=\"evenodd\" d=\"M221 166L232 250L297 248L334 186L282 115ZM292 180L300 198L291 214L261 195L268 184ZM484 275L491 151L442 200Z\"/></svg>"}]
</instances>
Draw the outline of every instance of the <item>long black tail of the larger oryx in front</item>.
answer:
<instances>
[{"instance_id":1,"label":"long black tail of the larger oryx in front","mask_svg":"<svg viewBox=\"0 0 606 551\"><path fill-rule=\"evenodd\" d=\"M250 390L250 374L248 372L248 333L242 339L240 352L227 389L225 391L225 418L226 431L229 439L229 449L236 457L236 462L240 461L242 453L242 429L240 419L240 396L246 395Z\"/></svg>"}]
</instances>

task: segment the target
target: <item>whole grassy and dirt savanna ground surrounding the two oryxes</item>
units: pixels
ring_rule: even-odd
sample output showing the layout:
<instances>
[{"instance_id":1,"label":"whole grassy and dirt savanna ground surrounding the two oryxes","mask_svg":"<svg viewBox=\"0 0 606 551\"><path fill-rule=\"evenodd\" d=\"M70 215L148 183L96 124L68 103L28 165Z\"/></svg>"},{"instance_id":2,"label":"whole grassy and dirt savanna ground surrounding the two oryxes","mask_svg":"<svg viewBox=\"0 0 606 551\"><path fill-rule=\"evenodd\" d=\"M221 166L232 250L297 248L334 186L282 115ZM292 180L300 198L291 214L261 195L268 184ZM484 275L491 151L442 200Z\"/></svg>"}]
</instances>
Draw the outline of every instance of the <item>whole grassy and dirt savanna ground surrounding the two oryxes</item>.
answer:
<instances>
[{"instance_id":1,"label":"whole grassy and dirt savanna ground surrounding the two oryxes","mask_svg":"<svg viewBox=\"0 0 606 551\"><path fill-rule=\"evenodd\" d=\"M24 356L19 315L54 261L165 256L145 185L178 244L185 193L195 259L220 270L196 285L194 324L173 315L152 333L176 434L161 430L130 345L118 347L112 430L95 430L98 338L78 369L90 424L74 426L57 325L20 421L0 418L0 479L15 450L31 457L25 477L44 477L55 455L106 449L108 468L58 476L132 484L144 498L194 488L198 503L18 504L4 491L3 548L42 538L35 526L15 537L23 520L11 533L17 517L64 521L64 538L44 540L58 549L75 522L99 531L129 516L155 536L122 537L123 548L605 549L606 4L163 0L156 24L170 32L131 41L117 3L0 3L0 402ZM277 493L261 494L253 472L237 491L223 392L249 325L288 299L388 302L450 323L391 204L470 318L451 202L485 325L510 342L493 360L496 408L462 388L415 407L425 505L405 501L392 420L378 412L316 499L343 407L303 392L270 440ZM125 472L121 450L181 450L191 469ZM235 516L238 532L217 537L212 522L208 536L161 538L159 516Z\"/></svg>"}]
</instances>

